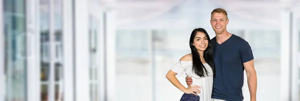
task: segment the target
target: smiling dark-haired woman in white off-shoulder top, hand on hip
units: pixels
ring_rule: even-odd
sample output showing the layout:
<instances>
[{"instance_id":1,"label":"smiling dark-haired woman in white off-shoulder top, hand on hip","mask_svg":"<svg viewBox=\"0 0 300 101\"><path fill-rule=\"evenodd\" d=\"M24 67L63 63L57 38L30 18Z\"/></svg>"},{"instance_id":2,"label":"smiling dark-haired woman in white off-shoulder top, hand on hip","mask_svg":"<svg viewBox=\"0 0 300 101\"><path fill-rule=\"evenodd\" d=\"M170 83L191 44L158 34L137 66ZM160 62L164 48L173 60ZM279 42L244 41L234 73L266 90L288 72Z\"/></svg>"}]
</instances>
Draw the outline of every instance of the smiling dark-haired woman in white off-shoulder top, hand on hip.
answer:
<instances>
[{"instance_id":1,"label":"smiling dark-haired woman in white off-shoulder top, hand on hip","mask_svg":"<svg viewBox=\"0 0 300 101\"><path fill-rule=\"evenodd\" d=\"M180 101L210 101L214 74L214 62L210 38L203 28L196 28L189 38L191 54L183 56L166 74L166 78L184 94ZM185 88L175 75L185 74L192 78Z\"/></svg>"}]
</instances>

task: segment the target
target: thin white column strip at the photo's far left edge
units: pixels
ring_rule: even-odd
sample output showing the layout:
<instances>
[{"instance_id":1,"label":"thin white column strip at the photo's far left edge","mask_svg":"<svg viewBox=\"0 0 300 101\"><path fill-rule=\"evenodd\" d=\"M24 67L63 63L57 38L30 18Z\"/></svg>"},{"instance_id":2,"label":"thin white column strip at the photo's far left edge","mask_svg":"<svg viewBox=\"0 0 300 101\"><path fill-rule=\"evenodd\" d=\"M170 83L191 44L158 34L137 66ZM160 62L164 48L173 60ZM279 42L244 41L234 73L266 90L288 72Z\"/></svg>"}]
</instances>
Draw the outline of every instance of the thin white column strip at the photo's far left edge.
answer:
<instances>
[{"instance_id":1,"label":"thin white column strip at the photo's far left edge","mask_svg":"<svg viewBox=\"0 0 300 101\"><path fill-rule=\"evenodd\" d=\"M4 101L4 30L3 30L3 0L0 0L0 101Z\"/></svg>"}]
</instances>

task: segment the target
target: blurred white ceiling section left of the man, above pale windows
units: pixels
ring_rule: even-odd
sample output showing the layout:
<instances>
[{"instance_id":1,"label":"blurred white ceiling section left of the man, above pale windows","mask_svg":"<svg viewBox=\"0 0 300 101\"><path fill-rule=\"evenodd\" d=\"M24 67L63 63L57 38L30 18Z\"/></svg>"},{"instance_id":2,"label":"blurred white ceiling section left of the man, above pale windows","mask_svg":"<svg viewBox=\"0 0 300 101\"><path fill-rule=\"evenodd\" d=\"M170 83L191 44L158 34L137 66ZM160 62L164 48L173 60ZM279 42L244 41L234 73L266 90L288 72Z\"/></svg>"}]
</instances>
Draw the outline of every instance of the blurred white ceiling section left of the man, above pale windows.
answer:
<instances>
[{"instance_id":1,"label":"blurred white ceiling section left of the man, above pale windows","mask_svg":"<svg viewBox=\"0 0 300 101\"><path fill-rule=\"evenodd\" d=\"M153 18L185 0L118 0L116 17L118 24L127 24Z\"/></svg>"}]
</instances>

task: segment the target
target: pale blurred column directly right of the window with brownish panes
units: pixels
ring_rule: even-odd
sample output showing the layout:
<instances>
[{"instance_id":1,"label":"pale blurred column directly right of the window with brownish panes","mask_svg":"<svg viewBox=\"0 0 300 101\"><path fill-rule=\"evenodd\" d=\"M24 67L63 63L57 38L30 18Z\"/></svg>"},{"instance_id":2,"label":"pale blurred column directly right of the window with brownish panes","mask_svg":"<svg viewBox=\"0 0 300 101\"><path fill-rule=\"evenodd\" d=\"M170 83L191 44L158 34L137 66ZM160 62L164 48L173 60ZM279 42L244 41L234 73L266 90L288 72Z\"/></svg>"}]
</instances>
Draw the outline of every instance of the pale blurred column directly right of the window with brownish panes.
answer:
<instances>
[{"instance_id":1,"label":"pale blurred column directly right of the window with brownish panes","mask_svg":"<svg viewBox=\"0 0 300 101\"><path fill-rule=\"evenodd\" d=\"M74 43L73 43L73 13L72 0L62 1L62 42L63 42L63 101L74 101Z\"/></svg>"}]
</instances>

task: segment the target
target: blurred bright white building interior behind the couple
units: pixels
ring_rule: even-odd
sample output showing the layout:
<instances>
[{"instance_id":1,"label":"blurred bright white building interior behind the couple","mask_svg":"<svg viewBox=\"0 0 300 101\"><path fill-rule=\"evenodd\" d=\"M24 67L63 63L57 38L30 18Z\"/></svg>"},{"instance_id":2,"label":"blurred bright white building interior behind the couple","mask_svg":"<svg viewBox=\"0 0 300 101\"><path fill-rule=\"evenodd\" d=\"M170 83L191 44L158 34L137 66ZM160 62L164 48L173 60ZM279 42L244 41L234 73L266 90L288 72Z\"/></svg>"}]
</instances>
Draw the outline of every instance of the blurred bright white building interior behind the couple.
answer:
<instances>
[{"instance_id":1,"label":"blurred bright white building interior behind the couple","mask_svg":"<svg viewBox=\"0 0 300 101\"><path fill-rule=\"evenodd\" d=\"M0 101L179 101L165 74L218 7L252 48L257 101L300 101L299 0L0 0Z\"/></svg>"}]
</instances>

